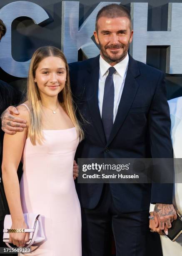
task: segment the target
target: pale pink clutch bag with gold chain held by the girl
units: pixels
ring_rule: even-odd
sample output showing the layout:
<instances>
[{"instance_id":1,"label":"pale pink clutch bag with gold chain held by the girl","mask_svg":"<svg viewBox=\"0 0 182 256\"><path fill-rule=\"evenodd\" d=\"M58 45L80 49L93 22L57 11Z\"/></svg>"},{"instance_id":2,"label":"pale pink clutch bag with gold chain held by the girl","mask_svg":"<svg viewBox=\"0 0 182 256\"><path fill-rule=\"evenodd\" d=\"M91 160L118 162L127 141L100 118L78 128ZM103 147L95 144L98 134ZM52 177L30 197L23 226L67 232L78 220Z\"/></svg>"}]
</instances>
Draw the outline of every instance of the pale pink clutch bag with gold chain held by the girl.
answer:
<instances>
[{"instance_id":1,"label":"pale pink clutch bag with gold chain held by the girl","mask_svg":"<svg viewBox=\"0 0 182 256\"><path fill-rule=\"evenodd\" d=\"M29 241L26 243L27 246L24 248L29 248L32 245L37 245L38 243L45 240L45 234L43 230L43 218L39 214L35 213L24 213L25 223L27 224L28 228L20 230L20 232L30 233L29 234ZM6 215L4 220L4 229L3 229L3 242L10 248L10 233L8 232L12 226L11 215Z\"/></svg>"}]
</instances>

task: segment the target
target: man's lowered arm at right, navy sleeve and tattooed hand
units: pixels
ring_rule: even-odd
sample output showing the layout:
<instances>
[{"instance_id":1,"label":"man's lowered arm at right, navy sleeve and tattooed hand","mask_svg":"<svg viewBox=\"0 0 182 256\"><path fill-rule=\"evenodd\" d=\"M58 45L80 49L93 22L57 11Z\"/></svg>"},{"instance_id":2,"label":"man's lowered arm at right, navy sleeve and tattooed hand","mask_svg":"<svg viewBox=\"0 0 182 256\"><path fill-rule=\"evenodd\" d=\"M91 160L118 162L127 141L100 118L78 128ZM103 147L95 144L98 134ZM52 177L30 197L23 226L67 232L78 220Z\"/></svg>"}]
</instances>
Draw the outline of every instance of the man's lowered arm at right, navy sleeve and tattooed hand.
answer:
<instances>
[{"instance_id":1,"label":"man's lowered arm at right, navy sleeve and tattooed hand","mask_svg":"<svg viewBox=\"0 0 182 256\"><path fill-rule=\"evenodd\" d=\"M155 95L149 114L149 129L152 158L173 158L170 136L170 110L167 103L164 74L158 79ZM154 216L156 227L167 231L171 227L170 220L177 215L172 205L173 184L152 184L151 203L155 204ZM162 211L160 214L160 211ZM167 232L166 232L167 233Z\"/></svg>"}]
</instances>

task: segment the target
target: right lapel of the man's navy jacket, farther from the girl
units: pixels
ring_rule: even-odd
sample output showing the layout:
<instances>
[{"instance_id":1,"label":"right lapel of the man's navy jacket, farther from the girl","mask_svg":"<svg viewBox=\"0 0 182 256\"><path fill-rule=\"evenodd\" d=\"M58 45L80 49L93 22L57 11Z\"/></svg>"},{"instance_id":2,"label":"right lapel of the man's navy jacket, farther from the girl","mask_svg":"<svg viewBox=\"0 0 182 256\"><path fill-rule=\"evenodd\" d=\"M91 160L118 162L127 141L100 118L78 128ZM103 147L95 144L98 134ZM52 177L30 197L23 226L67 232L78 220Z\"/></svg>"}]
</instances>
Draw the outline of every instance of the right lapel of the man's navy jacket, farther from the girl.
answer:
<instances>
[{"instance_id":1,"label":"right lapel of the man's navy jacket, farther from the girl","mask_svg":"<svg viewBox=\"0 0 182 256\"><path fill-rule=\"evenodd\" d=\"M135 99L135 95L139 86L135 79L139 75L140 75L140 72L137 65L137 61L132 59L132 57L130 56L127 75L125 79L124 88L122 91L120 104L118 106L117 115L112 127L112 131L110 133L109 140L107 141L107 146L114 139L120 127L124 123L125 118L127 117L127 114L130 110L133 100Z\"/></svg>"}]
</instances>

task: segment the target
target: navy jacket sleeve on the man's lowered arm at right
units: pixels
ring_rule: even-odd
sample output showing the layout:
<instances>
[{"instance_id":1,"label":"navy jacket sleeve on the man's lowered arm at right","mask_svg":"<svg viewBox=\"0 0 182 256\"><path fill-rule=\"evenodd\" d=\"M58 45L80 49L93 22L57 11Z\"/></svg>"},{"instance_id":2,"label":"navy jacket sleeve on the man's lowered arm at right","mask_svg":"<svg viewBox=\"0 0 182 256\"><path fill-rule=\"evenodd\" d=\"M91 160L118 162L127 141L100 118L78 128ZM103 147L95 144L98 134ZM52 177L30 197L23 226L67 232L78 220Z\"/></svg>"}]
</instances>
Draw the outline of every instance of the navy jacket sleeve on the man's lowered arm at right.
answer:
<instances>
[{"instance_id":1,"label":"navy jacket sleeve on the man's lowered arm at right","mask_svg":"<svg viewBox=\"0 0 182 256\"><path fill-rule=\"evenodd\" d=\"M170 129L170 109L167 103L165 79L164 74L160 74L149 112L150 151L152 158L173 159ZM173 164L171 167L171 172L173 173ZM168 171L166 170L166 172ZM172 204L172 194L172 183L152 183L151 203Z\"/></svg>"}]
</instances>

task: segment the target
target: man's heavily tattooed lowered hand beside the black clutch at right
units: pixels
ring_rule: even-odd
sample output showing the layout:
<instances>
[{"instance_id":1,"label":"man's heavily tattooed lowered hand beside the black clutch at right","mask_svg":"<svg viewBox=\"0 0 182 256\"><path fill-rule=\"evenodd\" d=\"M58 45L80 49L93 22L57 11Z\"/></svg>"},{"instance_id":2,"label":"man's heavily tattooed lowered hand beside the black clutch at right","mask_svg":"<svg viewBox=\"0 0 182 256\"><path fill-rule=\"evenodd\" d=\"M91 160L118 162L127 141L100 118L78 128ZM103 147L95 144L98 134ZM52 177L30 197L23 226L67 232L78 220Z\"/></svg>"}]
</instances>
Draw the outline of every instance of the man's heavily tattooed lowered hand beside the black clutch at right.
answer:
<instances>
[{"instance_id":1,"label":"man's heavily tattooed lowered hand beside the black clutch at right","mask_svg":"<svg viewBox=\"0 0 182 256\"><path fill-rule=\"evenodd\" d=\"M171 222L177 219L177 214L173 205L156 204L154 208L155 227L164 230L168 235L168 228L171 228Z\"/></svg>"}]
</instances>

